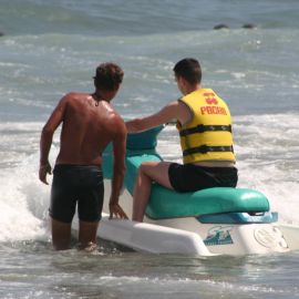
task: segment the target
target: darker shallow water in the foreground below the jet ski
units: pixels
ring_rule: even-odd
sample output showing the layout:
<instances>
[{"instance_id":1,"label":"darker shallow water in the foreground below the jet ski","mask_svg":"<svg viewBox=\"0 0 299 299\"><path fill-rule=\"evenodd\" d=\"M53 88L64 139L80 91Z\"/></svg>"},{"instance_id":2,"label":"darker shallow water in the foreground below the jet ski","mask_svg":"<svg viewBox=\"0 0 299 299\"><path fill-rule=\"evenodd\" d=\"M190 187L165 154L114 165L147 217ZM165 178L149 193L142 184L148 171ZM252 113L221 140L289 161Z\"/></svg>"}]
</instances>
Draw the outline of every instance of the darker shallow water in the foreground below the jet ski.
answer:
<instances>
[{"instance_id":1,"label":"darker shallow water in the foreground below the jet ski","mask_svg":"<svg viewBox=\"0 0 299 299\"><path fill-rule=\"evenodd\" d=\"M299 297L298 252L203 258L138 254L107 243L93 254L19 243L2 245L0 254L1 298Z\"/></svg>"}]
</instances>

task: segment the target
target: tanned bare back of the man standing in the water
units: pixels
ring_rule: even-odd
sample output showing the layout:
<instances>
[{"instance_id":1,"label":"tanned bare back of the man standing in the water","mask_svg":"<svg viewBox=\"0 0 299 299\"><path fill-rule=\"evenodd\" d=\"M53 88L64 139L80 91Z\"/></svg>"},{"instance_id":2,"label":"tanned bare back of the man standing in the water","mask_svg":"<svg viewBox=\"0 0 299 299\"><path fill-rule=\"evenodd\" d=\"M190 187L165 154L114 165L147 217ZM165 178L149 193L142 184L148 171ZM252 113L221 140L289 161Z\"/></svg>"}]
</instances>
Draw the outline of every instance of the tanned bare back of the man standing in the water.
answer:
<instances>
[{"instance_id":1,"label":"tanned bare back of the man standing in the water","mask_svg":"<svg viewBox=\"0 0 299 299\"><path fill-rule=\"evenodd\" d=\"M106 145L114 138L121 143L126 132L111 104L94 95L70 93L58 109L64 116L56 164L101 165Z\"/></svg>"}]
</instances>

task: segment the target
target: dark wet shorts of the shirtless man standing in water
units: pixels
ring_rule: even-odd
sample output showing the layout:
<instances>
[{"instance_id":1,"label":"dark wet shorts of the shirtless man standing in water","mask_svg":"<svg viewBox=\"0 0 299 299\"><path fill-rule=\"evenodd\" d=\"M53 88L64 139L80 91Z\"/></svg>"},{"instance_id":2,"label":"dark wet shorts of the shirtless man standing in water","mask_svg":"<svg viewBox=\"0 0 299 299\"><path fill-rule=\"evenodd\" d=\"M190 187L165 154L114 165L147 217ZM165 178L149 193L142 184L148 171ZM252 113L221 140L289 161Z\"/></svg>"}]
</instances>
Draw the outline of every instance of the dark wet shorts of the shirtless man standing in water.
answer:
<instances>
[{"instance_id":1,"label":"dark wet shorts of the shirtless man standing in water","mask_svg":"<svg viewBox=\"0 0 299 299\"><path fill-rule=\"evenodd\" d=\"M100 221L104 199L101 166L55 165L51 189L50 216L71 223L75 214L82 221Z\"/></svg>"}]
</instances>

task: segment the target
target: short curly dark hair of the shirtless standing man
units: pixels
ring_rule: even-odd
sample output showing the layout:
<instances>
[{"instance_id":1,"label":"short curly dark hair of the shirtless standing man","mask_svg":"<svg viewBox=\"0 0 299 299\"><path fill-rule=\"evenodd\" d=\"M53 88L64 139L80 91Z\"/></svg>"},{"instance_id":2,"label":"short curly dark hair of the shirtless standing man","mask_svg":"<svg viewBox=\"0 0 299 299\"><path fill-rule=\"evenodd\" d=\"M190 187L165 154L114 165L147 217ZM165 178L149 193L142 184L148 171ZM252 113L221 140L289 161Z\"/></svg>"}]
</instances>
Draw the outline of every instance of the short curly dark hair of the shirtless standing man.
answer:
<instances>
[{"instance_id":1,"label":"short curly dark hair of the shirtless standing man","mask_svg":"<svg viewBox=\"0 0 299 299\"><path fill-rule=\"evenodd\" d=\"M96 68L94 86L105 91L115 91L123 82L124 71L113 62L102 63Z\"/></svg>"}]
</instances>

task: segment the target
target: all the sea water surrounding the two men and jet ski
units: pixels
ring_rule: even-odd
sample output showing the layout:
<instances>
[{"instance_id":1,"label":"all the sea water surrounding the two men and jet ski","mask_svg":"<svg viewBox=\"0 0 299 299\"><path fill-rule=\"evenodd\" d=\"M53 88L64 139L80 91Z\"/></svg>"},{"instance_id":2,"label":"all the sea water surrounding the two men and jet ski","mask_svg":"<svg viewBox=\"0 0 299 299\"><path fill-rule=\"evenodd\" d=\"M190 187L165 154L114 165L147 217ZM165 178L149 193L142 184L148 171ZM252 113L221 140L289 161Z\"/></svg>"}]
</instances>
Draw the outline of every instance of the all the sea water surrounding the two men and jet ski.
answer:
<instances>
[{"instance_id":1,"label":"all the sea water surrounding the two men and jet ski","mask_svg":"<svg viewBox=\"0 0 299 299\"><path fill-rule=\"evenodd\" d=\"M55 252L50 187L38 179L44 122L64 93L93 92L99 63L124 69L113 105L132 118L178 99L173 66L194 56L230 107L239 187L299 225L298 16L297 0L1 0L0 298L299 298L298 252L204 258L104 241ZM181 162L174 126L158 152Z\"/></svg>"}]
</instances>

